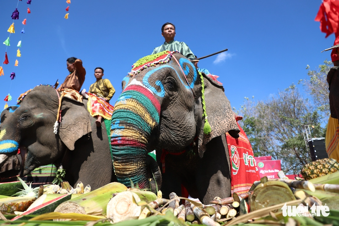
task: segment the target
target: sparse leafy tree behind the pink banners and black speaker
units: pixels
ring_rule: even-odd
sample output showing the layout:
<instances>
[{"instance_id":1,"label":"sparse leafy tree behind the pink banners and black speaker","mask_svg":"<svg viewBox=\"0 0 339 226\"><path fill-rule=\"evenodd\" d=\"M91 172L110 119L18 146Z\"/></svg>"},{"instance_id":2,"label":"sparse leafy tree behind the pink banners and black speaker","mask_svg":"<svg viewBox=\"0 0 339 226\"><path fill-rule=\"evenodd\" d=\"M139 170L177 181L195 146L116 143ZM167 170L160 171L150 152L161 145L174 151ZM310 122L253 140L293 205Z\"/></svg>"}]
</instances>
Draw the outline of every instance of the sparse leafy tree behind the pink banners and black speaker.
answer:
<instances>
[{"instance_id":1,"label":"sparse leafy tree behind the pink banners and black speaker","mask_svg":"<svg viewBox=\"0 0 339 226\"><path fill-rule=\"evenodd\" d=\"M294 84L265 101L247 98L240 114L255 155L282 160L285 173L298 173L302 165L311 161L303 137L304 125L313 125L312 137L324 136L318 110Z\"/></svg>"}]
</instances>

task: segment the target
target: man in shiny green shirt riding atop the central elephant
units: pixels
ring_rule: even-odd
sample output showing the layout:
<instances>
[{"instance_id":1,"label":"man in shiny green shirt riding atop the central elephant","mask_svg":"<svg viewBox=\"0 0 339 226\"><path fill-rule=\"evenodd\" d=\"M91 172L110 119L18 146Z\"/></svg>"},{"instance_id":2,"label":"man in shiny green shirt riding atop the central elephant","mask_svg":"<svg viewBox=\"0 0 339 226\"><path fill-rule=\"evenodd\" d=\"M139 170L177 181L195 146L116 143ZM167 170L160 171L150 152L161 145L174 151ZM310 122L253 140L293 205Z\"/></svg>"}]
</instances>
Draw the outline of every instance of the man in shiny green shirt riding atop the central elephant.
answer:
<instances>
[{"instance_id":1,"label":"man in shiny green shirt riding atop the central elephant","mask_svg":"<svg viewBox=\"0 0 339 226\"><path fill-rule=\"evenodd\" d=\"M152 54L160 53L162 51L174 51L178 50L183 56L190 60L194 60L195 56L191 49L184 42L174 41L175 37L175 26L172 23L165 23L161 27L161 35L165 38L164 44L156 47Z\"/></svg>"}]
</instances>

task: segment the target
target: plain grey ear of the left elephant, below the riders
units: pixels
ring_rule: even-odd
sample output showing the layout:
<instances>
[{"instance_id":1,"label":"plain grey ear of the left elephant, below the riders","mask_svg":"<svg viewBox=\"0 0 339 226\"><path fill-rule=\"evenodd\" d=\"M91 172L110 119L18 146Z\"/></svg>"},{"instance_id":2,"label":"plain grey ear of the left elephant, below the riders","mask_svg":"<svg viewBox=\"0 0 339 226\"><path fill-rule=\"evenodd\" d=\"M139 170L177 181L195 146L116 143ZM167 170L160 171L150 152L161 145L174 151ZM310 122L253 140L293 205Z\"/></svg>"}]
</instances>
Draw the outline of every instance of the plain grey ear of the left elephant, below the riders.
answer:
<instances>
[{"instance_id":1,"label":"plain grey ear of the left elephant, below the riders","mask_svg":"<svg viewBox=\"0 0 339 226\"><path fill-rule=\"evenodd\" d=\"M69 150L74 150L74 143L87 133L92 132L88 112L83 103L62 98L61 124L59 137Z\"/></svg>"}]
</instances>

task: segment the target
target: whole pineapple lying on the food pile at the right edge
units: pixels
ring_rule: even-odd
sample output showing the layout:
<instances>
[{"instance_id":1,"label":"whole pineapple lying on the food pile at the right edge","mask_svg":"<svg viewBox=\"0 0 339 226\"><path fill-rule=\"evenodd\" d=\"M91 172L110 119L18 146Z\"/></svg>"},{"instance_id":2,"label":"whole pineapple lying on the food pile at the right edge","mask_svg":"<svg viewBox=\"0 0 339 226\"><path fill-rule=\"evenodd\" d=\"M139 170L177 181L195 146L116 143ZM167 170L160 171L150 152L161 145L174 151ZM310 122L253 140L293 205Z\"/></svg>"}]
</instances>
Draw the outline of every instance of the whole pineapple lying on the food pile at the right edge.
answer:
<instances>
[{"instance_id":1,"label":"whole pineapple lying on the food pile at the right edge","mask_svg":"<svg viewBox=\"0 0 339 226\"><path fill-rule=\"evenodd\" d=\"M305 180L325 176L338 171L339 163L335 159L318 159L317 161L304 165L301 174Z\"/></svg>"}]
</instances>

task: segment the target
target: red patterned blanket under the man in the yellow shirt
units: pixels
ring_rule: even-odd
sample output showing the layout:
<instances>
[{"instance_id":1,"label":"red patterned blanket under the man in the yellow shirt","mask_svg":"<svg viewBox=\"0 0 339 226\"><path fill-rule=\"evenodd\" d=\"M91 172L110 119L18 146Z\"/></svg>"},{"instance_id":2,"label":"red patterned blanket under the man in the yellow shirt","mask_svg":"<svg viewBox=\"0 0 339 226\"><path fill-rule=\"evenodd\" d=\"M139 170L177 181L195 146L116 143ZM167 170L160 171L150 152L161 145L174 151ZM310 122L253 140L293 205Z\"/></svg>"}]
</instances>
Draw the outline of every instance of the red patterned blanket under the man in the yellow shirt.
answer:
<instances>
[{"instance_id":1,"label":"red patterned blanket under the man in the yellow shirt","mask_svg":"<svg viewBox=\"0 0 339 226\"><path fill-rule=\"evenodd\" d=\"M87 109L91 116L100 115L102 118L111 120L113 114L113 106L95 96L94 94L88 94Z\"/></svg>"}]
</instances>

